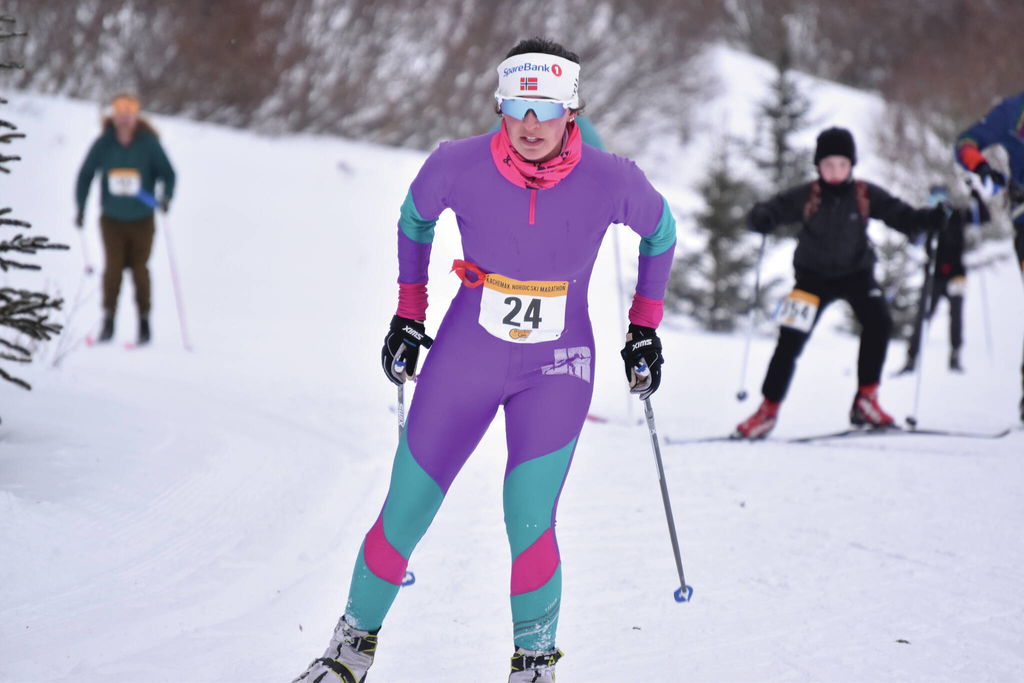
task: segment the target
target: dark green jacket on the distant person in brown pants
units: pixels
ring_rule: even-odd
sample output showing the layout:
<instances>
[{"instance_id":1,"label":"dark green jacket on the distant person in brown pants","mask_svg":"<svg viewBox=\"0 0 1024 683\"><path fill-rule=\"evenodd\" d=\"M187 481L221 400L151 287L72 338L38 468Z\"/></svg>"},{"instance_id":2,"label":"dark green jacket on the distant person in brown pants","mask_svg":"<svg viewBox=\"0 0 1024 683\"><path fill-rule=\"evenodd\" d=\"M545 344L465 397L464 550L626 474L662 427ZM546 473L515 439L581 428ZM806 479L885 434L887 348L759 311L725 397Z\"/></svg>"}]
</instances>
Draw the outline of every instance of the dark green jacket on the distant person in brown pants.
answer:
<instances>
[{"instance_id":1,"label":"dark green jacket on the distant person in brown pants","mask_svg":"<svg viewBox=\"0 0 1024 683\"><path fill-rule=\"evenodd\" d=\"M153 214L153 209L138 199L138 191L155 196L157 180L164 181L164 199L174 196L174 169L167 160L157 135L143 123L135 129L131 144L118 141L113 124L102 134L82 163L78 172L78 209L85 210L89 185L96 171L102 172L102 214L115 220L139 220Z\"/></svg>"}]
</instances>

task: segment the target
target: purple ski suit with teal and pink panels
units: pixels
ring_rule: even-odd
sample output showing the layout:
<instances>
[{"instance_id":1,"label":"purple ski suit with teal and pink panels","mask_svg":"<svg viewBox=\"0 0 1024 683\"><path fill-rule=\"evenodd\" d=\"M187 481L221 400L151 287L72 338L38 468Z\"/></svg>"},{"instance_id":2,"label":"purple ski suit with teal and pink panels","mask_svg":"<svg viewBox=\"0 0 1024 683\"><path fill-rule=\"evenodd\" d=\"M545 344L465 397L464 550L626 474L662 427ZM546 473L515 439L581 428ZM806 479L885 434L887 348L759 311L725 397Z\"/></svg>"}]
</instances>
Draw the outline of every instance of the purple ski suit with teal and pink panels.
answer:
<instances>
[{"instance_id":1,"label":"purple ski suit with teal and pink panels","mask_svg":"<svg viewBox=\"0 0 1024 683\"><path fill-rule=\"evenodd\" d=\"M676 228L668 203L628 159L584 144L564 178L530 190L498 171L490 138L444 142L420 169L398 221L398 282L426 283L434 224L452 209L466 261L504 279L557 283L551 289L562 298L501 294L492 301L507 309L485 329L481 298L497 295L460 288L423 364L387 499L356 559L345 618L358 629L381 626L413 549L504 407L514 642L546 650L554 647L561 598L555 509L593 393L587 289L594 260L609 223L629 225L643 238L637 292L660 300ZM553 340L531 342L518 329L560 321L552 301L564 304L564 327ZM503 324L516 328L511 337L495 332Z\"/></svg>"}]
</instances>

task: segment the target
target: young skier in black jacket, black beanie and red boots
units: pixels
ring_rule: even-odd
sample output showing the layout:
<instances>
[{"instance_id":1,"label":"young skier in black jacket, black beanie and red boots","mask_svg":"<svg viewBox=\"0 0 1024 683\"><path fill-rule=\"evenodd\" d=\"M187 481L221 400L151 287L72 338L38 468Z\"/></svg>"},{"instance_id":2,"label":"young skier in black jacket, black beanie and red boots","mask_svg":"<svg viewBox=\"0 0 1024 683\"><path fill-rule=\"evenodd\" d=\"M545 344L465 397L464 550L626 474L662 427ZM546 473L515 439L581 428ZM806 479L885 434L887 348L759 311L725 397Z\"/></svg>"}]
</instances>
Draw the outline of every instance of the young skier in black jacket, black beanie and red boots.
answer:
<instances>
[{"instance_id":1,"label":"young skier in black jacket, black beanie and red boots","mask_svg":"<svg viewBox=\"0 0 1024 683\"><path fill-rule=\"evenodd\" d=\"M892 318L882 288L874 281L868 219L878 218L914 237L945 226L950 209L946 205L914 209L877 185L854 180L856 146L853 135L843 128L829 128L818 135L814 163L817 180L755 205L748 217L751 229L762 233L778 225L803 224L793 257L797 284L777 315L778 345L761 389L764 401L736 427L736 438L763 438L775 426L797 357L822 310L836 299L850 303L863 329L857 364L859 388L850 409L850 422L876 428L894 424L878 399Z\"/></svg>"}]
</instances>

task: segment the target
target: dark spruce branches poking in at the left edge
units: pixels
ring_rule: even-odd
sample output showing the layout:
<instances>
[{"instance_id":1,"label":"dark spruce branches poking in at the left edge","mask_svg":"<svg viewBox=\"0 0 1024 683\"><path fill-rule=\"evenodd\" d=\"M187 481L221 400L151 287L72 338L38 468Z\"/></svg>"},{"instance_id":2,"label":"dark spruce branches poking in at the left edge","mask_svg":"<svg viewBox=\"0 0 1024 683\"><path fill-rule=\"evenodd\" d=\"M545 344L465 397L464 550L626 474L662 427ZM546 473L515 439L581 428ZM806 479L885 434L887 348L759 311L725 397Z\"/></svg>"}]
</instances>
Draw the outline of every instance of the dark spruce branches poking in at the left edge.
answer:
<instances>
[{"instance_id":1,"label":"dark spruce branches poking in at the left edge","mask_svg":"<svg viewBox=\"0 0 1024 683\"><path fill-rule=\"evenodd\" d=\"M14 24L10 16L0 16L0 23ZM0 31L0 42L25 36L23 31ZM22 69L22 65L13 61L0 62L0 69ZM7 100L0 98L0 104ZM13 140L24 138L18 133L17 126L9 121L0 120L0 129L11 131L0 134L0 143L10 144ZM20 161L20 157L0 154L0 172L10 173L6 167L9 162ZM27 263L17 256L33 255L44 249L68 249L66 245L51 244L43 237L26 237L22 229L32 227L31 223L16 218L9 218L11 209L0 209L0 227L18 230L12 238L0 239L0 271L6 273L11 269L40 270L41 266ZM9 362L31 362L32 351L43 341L48 341L53 335L59 334L60 326L49 322L49 315L59 310L63 301L53 299L45 292L33 292L25 289L0 287L0 360ZM0 365L0 378L17 386L31 389L25 380L10 375Z\"/></svg>"}]
</instances>

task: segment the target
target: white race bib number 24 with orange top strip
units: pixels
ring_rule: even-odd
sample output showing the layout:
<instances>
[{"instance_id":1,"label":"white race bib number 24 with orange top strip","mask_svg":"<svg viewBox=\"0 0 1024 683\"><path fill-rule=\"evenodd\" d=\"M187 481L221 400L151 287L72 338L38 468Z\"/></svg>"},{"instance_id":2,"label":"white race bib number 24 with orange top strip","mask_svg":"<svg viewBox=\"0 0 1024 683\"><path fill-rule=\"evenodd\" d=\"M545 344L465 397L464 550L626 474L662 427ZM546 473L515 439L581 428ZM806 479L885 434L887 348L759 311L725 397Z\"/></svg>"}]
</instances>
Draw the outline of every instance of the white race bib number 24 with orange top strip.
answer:
<instances>
[{"instance_id":1,"label":"white race bib number 24 with orange top strip","mask_svg":"<svg viewBox=\"0 0 1024 683\"><path fill-rule=\"evenodd\" d=\"M538 344L562 336L569 284L519 282L497 273L483 281L480 325L511 342Z\"/></svg>"}]
</instances>

